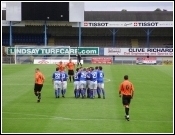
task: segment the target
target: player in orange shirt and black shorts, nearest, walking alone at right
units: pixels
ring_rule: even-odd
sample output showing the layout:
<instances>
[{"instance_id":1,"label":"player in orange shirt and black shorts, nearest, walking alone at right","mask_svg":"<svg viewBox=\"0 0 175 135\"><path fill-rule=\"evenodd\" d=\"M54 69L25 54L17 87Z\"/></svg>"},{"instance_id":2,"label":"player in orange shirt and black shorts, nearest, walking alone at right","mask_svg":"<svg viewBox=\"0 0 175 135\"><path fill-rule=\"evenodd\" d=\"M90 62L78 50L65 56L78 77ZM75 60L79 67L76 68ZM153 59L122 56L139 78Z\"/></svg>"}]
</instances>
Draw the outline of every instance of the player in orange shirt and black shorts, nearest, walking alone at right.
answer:
<instances>
[{"instance_id":1,"label":"player in orange shirt and black shorts, nearest, walking alone at right","mask_svg":"<svg viewBox=\"0 0 175 135\"><path fill-rule=\"evenodd\" d=\"M128 80L128 75L124 76L124 81L120 84L119 97L122 97L123 106L125 107L125 119L129 121L129 105L134 96L134 86Z\"/></svg>"}]
</instances>

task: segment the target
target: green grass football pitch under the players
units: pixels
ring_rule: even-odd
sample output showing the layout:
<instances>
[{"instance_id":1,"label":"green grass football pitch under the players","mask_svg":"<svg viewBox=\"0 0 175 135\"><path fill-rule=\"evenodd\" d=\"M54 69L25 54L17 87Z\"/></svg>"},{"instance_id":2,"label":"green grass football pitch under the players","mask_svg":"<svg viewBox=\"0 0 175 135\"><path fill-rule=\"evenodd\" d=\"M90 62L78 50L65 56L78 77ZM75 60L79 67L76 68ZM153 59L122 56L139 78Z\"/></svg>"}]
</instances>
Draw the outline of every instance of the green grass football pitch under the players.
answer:
<instances>
[{"instance_id":1,"label":"green grass football pitch under the players","mask_svg":"<svg viewBox=\"0 0 175 135\"><path fill-rule=\"evenodd\" d=\"M40 103L33 93L36 67L46 77ZM173 66L104 65L103 69L106 99L75 99L69 82L65 98L56 99L51 81L55 65L3 65L2 133L174 132ZM118 96L125 74L135 86L129 122Z\"/></svg>"}]
</instances>

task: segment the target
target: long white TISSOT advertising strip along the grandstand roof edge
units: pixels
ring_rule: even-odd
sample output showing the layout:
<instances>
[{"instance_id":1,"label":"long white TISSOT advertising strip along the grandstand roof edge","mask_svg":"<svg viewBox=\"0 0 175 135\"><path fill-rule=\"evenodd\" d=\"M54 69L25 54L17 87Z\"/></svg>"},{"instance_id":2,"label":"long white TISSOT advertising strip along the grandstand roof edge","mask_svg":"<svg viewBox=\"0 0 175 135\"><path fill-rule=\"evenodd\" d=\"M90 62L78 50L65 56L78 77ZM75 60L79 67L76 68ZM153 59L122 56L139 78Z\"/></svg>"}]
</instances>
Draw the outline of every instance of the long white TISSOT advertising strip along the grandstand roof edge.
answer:
<instances>
[{"instance_id":1,"label":"long white TISSOT advertising strip along the grandstand roof edge","mask_svg":"<svg viewBox=\"0 0 175 135\"><path fill-rule=\"evenodd\" d=\"M72 25L72 27L79 27ZM137 28L137 27L173 27L173 21L119 21L119 22L81 22L81 27L87 28Z\"/></svg>"}]
</instances>

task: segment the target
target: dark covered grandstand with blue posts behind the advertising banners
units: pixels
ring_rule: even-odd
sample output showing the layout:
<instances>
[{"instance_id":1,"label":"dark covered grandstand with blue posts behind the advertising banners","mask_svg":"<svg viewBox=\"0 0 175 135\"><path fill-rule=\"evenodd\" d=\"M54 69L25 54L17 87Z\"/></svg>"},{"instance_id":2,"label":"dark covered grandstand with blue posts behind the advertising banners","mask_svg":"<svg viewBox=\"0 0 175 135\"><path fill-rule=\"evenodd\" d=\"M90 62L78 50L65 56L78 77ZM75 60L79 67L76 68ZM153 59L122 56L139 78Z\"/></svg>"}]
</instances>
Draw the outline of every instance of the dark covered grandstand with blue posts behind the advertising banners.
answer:
<instances>
[{"instance_id":1,"label":"dark covered grandstand with blue posts behind the advertising banners","mask_svg":"<svg viewBox=\"0 0 175 135\"><path fill-rule=\"evenodd\" d=\"M2 11L2 45L10 46L10 27ZM164 22L166 27L82 27L86 22ZM84 11L84 22L50 21L47 26L47 46L173 48L172 11ZM130 23L130 24L131 24ZM44 21L22 21L12 24L12 43L38 45L44 43ZM171 26L168 26L171 25ZM81 36L81 37L80 37ZM81 40L80 40L81 39ZM5 54L5 53L3 53Z\"/></svg>"}]
</instances>

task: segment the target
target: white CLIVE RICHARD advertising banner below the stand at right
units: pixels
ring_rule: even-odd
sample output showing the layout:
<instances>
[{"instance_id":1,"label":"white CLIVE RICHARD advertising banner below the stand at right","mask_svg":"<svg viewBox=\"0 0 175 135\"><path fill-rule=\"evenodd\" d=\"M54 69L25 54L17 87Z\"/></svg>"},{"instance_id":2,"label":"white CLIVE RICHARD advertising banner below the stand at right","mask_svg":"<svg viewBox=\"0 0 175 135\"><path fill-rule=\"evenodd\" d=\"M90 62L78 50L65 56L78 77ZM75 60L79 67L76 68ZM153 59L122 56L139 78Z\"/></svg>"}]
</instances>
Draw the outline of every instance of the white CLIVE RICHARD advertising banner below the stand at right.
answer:
<instances>
[{"instance_id":1,"label":"white CLIVE RICHARD advertising banner below the stand at right","mask_svg":"<svg viewBox=\"0 0 175 135\"><path fill-rule=\"evenodd\" d=\"M173 48L104 48L112 56L173 56Z\"/></svg>"}]
</instances>

